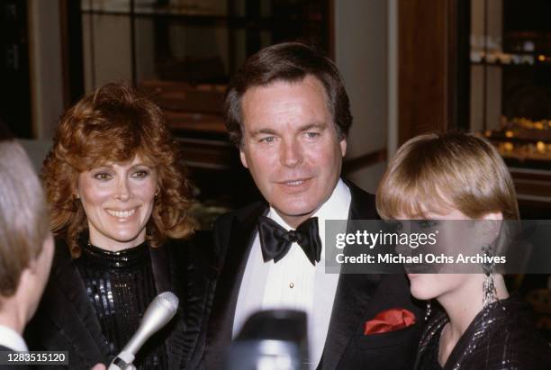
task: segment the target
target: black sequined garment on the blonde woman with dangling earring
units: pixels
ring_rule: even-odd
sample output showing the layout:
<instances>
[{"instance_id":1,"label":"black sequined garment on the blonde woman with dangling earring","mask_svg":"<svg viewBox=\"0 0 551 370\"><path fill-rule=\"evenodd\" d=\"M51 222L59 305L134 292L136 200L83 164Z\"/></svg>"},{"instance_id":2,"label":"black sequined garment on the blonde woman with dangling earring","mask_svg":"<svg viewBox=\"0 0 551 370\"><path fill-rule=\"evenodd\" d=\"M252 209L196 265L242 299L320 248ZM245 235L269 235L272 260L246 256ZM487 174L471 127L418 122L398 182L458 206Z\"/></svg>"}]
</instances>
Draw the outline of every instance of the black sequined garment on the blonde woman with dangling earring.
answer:
<instances>
[{"instance_id":1,"label":"black sequined garment on the blonde woman with dangling earring","mask_svg":"<svg viewBox=\"0 0 551 370\"><path fill-rule=\"evenodd\" d=\"M415 369L551 369L551 347L537 334L528 303L517 297L493 302L479 312L442 367L438 364L438 344L447 322L444 312L429 320Z\"/></svg>"}]
</instances>

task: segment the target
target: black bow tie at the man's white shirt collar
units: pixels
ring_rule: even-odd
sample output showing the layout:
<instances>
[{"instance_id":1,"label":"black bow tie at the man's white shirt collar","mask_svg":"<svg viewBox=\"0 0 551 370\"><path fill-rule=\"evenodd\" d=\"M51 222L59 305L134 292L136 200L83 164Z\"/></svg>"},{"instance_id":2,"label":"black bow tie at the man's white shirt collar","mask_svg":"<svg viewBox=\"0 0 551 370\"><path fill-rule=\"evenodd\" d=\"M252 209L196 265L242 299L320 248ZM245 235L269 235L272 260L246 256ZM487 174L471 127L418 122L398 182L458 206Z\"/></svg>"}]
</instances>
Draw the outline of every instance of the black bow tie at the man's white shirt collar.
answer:
<instances>
[{"instance_id":1,"label":"black bow tie at the man's white shirt collar","mask_svg":"<svg viewBox=\"0 0 551 370\"><path fill-rule=\"evenodd\" d=\"M258 235L265 262L273 259L276 263L285 257L294 242L303 248L313 266L316 266L316 262L320 262L321 239L317 217L304 221L296 230L287 231L276 221L260 216L258 218Z\"/></svg>"}]
</instances>

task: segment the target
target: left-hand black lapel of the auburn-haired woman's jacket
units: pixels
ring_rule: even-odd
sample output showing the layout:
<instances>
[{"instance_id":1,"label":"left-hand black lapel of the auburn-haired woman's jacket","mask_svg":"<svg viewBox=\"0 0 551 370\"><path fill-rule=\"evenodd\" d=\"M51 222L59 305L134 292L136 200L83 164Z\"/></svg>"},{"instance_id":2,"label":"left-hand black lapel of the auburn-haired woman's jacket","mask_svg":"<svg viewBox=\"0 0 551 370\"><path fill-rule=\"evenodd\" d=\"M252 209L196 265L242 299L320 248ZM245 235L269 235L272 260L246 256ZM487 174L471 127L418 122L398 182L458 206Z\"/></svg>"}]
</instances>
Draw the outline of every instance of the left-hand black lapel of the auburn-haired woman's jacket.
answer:
<instances>
[{"instance_id":1,"label":"left-hand black lapel of the auburn-haired woman's jacket","mask_svg":"<svg viewBox=\"0 0 551 370\"><path fill-rule=\"evenodd\" d=\"M103 345L100 323L95 316L94 307L88 302L86 288L78 274L77 266L68 255L66 246L59 246L56 258L59 262L52 273L50 318L59 329L72 338L77 353L86 357L93 364L107 359L108 348ZM44 294L48 297L48 294ZM50 298L48 298L50 299ZM63 310L53 308L63 307Z\"/></svg>"}]
</instances>

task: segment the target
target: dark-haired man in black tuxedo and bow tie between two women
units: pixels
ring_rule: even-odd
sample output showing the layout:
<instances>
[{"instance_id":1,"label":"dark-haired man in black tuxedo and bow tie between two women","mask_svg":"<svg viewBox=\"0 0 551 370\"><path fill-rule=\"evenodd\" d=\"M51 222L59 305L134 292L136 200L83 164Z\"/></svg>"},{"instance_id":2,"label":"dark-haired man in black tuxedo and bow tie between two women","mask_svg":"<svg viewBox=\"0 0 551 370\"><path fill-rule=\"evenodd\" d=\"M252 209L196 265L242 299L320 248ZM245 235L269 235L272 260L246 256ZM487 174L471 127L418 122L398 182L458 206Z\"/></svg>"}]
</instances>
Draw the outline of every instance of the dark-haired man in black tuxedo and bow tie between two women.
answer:
<instances>
[{"instance_id":1,"label":"dark-haired man in black tuxedo and bow tie between two women","mask_svg":"<svg viewBox=\"0 0 551 370\"><path fill-rule=\"evenodd\" d=\"M309 368L412 367L419 308L405 275L325 274L325 220L376 219L375 197L340 178L352 117L333 62L299 42L260 50L239 68L225 99L230 140L266 202L215 224L218 283L207 334L207 369L248 316L308 315ZM381 311L416 314L408 328L366 335Z\"/></svg>"}]
</instances>

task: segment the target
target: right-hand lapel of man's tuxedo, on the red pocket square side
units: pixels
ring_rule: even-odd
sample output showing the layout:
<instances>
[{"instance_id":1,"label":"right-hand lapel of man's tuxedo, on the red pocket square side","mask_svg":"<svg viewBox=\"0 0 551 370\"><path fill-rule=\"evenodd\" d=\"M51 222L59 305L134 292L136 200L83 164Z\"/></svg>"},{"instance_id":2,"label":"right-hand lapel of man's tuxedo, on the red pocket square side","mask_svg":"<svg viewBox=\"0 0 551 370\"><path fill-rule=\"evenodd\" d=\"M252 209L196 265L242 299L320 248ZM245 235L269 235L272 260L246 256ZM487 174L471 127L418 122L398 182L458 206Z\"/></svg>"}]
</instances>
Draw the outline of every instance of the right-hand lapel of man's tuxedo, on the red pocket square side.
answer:
<instances>
[{"instance_id":1,"label":"right-hand lapel of man's tuxedo, on the red pocket square side","mask_svg":"<svg viewBox=\"0 0 551 370\"><path fill-rule=\"evenodd\" d=\"M348 220L376 218L375 197L346 182L352 195ZM348 224L348 233L355 233ZM341 274L331 312L330 327L321 357L321 369L336 369L348 344L362 324L381 275ZM366 364L367 366L367 364Z\"/></svg>"}]
</instances>

